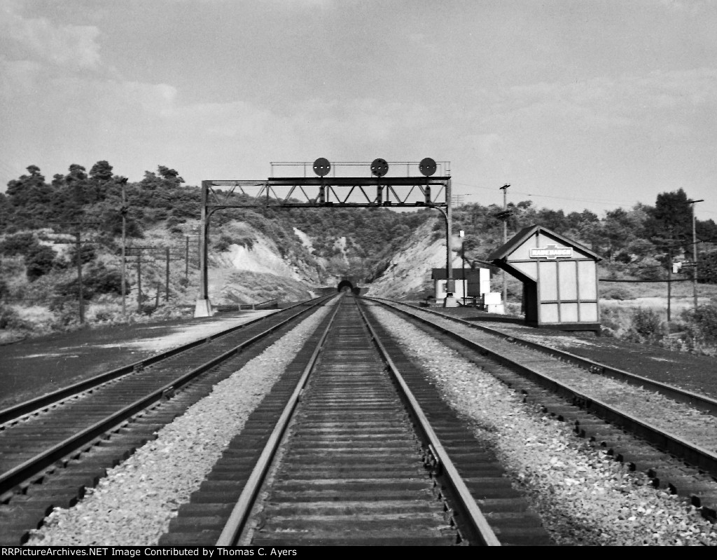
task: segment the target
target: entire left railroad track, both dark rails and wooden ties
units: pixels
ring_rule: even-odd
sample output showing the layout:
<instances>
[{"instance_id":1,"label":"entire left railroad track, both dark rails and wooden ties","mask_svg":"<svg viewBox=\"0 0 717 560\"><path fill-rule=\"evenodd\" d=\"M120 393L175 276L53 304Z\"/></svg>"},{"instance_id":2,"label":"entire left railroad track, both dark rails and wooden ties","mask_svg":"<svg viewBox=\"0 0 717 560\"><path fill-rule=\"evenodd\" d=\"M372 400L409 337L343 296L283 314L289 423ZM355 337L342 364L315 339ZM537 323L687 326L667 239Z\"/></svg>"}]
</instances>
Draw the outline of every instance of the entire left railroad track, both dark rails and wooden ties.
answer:
<instances>
[{"instance_id":1,"label":"entire left railroad track, both dark rails and wooden ties","mask_svg":"<svg viewBox=\"0 0 717 560\"><path fill-rule=\"evenodd\" d=\"M0 544L19 544L319 298L0 411Z\"/></svg>"}]
</instances>

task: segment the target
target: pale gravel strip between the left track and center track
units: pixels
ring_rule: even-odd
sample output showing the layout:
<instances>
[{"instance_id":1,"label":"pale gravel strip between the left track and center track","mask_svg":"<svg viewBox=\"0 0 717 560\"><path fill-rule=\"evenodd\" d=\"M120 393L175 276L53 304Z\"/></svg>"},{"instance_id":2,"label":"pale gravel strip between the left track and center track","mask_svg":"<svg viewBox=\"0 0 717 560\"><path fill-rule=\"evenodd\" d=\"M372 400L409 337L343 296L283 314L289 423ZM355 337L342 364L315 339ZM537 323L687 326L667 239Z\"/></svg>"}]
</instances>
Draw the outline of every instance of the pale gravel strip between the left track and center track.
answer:
<instances>
[{"instance_id":1,"label":"pale gravel strip between the left track and center track","mask_svg":"<svg viewBox=\"0 0 717 560\"><path fill-rule=\"evenodd\" d=\"M322 307L209 396L161 429L158 438L110 470L74 508L55 509L28 545L154 545L189 501L234 434L329 312Z\"/></svg>"}]
</instances>

